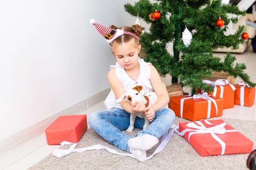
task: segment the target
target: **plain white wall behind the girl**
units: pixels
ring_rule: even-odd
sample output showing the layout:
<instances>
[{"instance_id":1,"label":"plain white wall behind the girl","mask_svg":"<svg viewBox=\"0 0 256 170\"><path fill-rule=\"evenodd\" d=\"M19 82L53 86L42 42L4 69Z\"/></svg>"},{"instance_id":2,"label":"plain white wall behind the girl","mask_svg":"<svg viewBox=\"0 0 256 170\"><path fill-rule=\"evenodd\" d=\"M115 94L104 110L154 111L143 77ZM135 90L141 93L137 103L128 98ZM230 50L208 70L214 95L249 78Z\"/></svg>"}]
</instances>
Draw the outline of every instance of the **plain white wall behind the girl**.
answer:
<instances>
[{"instance_id":1,"label":"plain white wall behind the girl","mask_svg":"<svg viewBox=\"0 0 256 170\"><path fill-rule=\"evenodd\" d=\"M109 88L115 57L89 20L133 24L126 2L0 1L0 140Z\"/></svg>"}]
</instances>

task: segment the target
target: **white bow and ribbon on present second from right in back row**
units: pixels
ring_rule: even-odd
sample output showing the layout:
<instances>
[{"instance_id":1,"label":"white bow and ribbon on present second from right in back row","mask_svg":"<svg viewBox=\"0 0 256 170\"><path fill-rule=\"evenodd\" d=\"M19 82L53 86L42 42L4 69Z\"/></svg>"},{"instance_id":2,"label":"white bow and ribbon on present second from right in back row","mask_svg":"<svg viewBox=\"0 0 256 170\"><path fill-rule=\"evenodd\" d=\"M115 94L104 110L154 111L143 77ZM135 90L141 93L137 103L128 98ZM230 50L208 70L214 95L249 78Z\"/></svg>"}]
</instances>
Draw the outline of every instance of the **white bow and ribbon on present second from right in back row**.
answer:
<instances>
[{"instance_id":1,"label":"white bow and ribbon on present second from right in back row","mask_svg":"<svg viewBox=\"0 0 256 170\"><path fill-rule=\"evenodd\" d=\"M229 84L229 86L232 88L233 91L236 90L235 86L230 84L227 79L217 79L215 82L203 79L202 82L206 83L206 84L212 84L214 86L214 92L213 92L214 97L216 97L217 85L220 86L220 98L223 98L223 93L224 93L224 87L223 86Z\"/></svg>"}]
</instances>

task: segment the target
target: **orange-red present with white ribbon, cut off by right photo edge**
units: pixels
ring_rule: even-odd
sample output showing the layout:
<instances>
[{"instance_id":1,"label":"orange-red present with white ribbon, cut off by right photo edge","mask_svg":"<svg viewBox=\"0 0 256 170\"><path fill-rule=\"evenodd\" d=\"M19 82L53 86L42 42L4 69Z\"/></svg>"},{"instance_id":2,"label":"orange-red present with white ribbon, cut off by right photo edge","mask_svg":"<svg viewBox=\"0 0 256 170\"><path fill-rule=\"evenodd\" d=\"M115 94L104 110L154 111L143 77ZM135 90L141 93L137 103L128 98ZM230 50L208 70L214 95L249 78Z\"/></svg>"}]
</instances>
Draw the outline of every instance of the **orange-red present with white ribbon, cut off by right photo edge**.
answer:
<instances>
[{"instance_id":1,"label":"orange-red present with white ribbon, cut off by right photo edge","mask_svg":"<svg viewBox=\"0 0 256 170\"><path fill-rule=\"evenodd\" d=\"M256 103L255 87L250 88L245 82L239 82L234 86L236 88L234 104L251 107Z\"/></svg>"}]
</instances>

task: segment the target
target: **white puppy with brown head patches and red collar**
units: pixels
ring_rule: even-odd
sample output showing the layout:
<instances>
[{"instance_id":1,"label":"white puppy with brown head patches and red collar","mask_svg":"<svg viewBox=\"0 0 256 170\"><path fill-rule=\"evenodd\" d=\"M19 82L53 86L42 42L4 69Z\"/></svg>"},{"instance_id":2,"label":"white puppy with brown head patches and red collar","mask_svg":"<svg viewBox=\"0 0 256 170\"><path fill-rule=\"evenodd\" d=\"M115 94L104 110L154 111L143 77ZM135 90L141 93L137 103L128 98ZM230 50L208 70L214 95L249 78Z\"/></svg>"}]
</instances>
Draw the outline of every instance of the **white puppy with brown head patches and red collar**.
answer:
<instances>
[{"instance_id":1,"label":"white puppy with brown head patches and red collar","mask_svg":"<svg viewBox=\"0 0 256 170\"><path fill-rule=\"evenodd\" d=\"M142 86L136 86L136 87L132 88L130 91L121 95L121 97L119 97L119 99L117 99L117 102L123 101L123 99L126 97L126 99L128 99L130 104L133 104L134 102L144 102L146 107L153 106L153 104L155 104L155 102L157 101L157 98L158 98L157 95L155 94L155 92L150 92L150 93L146 93L146 94L144 94L144 93L145 93L145 90L143 89ZM168 108L168 104L164 108ZM144 118L144 113L139 113L137 115L130 114L130 126L126 130L127 132L132 132L132 130L134 129L134 122L135 122L136 116L140 117L140 118ZM145 130L149 124L150 124L150 122L148 121L148 119L145 119L145 124L143 126L143 130Z\"/></svg>"}]
</instances>

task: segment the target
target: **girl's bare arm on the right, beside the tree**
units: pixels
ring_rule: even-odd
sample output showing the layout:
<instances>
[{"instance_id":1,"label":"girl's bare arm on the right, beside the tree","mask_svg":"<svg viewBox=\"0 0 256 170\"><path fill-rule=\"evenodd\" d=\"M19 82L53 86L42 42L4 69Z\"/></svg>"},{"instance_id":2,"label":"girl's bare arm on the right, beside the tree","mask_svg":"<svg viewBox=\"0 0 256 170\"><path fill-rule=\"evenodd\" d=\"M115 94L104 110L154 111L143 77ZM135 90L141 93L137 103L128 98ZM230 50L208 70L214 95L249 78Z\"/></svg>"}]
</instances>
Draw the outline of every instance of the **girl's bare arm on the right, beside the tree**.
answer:
<instances>
[{"instance_id":1,"label":"girl's bare arm on the right, beside the tree","mask_svg":"<svg viewBox=\"0 0 256 170\"><path fill-rule=\"evenodd\" d=\"M160 108L164 108L169 103L169 95L166 90L166 87L162 83L162 80L159 76L159 73L157 72L157 69L150 64L150 82L151 85L157 94L157 102L151 108L156 112Z\"/></svg>"}]
</instances>

